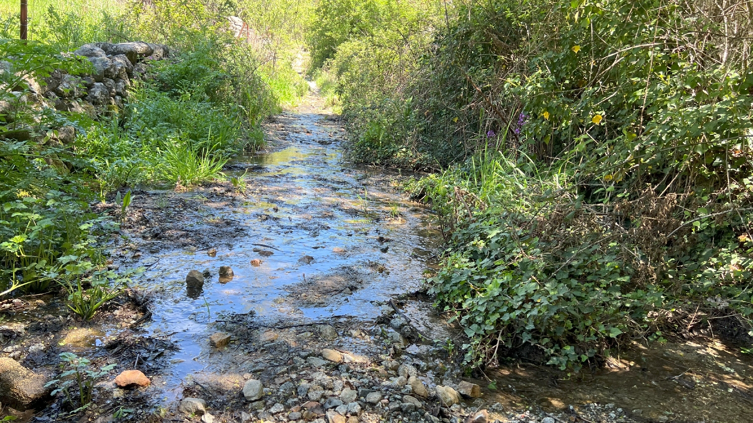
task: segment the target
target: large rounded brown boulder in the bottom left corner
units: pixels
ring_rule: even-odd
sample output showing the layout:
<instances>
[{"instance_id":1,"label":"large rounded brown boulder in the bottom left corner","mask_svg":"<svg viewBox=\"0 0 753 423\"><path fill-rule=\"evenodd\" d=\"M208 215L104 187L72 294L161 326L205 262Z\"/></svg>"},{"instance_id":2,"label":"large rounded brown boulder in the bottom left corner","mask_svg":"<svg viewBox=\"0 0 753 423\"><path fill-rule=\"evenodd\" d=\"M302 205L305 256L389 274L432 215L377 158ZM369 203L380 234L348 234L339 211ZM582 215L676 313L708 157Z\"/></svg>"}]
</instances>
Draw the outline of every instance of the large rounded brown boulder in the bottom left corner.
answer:
<instances>
[{"instance_id":1,"label":"large rounded brown boulder in the bottom left corner","mask_svg":"<svg viewBox=\"0 0 753 423\"><path fill-rule=\"evenodd\" d=\"M47 398L47 379L18 364L13 358L0 358L0 401L4 406L26 410Z\"/></svg>"}]
</instances>

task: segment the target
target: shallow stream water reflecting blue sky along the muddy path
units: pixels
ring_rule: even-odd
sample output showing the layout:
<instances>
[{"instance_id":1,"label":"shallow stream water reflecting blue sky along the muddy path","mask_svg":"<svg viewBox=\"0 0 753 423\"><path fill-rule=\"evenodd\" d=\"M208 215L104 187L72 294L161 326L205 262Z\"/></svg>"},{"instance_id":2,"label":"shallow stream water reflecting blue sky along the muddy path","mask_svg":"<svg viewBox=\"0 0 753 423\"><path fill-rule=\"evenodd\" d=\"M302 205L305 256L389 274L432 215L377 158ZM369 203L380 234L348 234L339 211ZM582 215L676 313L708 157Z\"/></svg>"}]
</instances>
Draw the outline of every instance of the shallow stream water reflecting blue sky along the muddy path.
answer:
<instances>
[{"instance_id":1,"label":"shallow stream water reflecting blue sky along the muddy path","mask_svg":"<svg viewBox=\"0 0 753 423\"><path fill-rule=\"evenodd\" d=\"M329 135L337 125L324 117L283 114L278 120L288 134L276 150L230 163L231 174L245 175L245 192L207 217L240 221L246 231L218 239L215 257L178 248L142 259L157 263L136 281L157 293L144 328L154 336L177 332L170 337L180 349L166 369L168 391L188 375L218 370L208 337L223 316L373 321L380 303L419 289L434 264L439 234L428 210L407 200L386 172L344 165ZM184 225L202 228L203 222ZM253 266L254 259L261 265ZM218 278L220 266L232 267L234 276ZM212 273L201 289L186 286L194 269Z\"/></svg>"}]
</instances>

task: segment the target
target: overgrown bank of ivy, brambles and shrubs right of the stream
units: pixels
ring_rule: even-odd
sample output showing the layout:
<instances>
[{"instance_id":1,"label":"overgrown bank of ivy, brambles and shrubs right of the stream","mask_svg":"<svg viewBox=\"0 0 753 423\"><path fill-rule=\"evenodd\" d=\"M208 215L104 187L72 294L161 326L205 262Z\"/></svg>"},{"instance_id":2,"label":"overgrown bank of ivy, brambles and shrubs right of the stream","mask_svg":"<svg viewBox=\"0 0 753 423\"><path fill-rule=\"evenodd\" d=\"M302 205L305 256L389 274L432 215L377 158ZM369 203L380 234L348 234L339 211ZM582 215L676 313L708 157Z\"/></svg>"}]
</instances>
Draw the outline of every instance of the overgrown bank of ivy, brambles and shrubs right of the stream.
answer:
<instances>
[{"instance_id":1,"label":"overgrown bank of ivy, brambles and shrubs right of the stream","mask_svg":"<svg viewBox=\"0 0 753 423\"><path fill-rule=\"evenodd\" d=\"M410 188L441 216L430 291L465 361L578 368L706 331L750 346L747 8L373 5L392 18L322 38L340 42L322 75L353 161L437 171Z\"/></svg>"}]
</instances>

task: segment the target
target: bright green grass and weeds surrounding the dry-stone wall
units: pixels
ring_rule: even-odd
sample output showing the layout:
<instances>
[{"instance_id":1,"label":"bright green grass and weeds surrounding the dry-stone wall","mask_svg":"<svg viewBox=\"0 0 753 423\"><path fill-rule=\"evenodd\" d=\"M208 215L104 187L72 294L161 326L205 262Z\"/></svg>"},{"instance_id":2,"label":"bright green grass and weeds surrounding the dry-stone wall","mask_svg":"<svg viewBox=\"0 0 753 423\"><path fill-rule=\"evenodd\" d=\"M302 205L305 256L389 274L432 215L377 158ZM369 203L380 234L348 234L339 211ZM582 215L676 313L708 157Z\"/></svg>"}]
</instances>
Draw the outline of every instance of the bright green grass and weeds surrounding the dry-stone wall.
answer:
<instances>
[{"instance_id":1,"label":"bright green grass and weeds surrounding the dry-stone wall","mask_svg":"<svg viewBox=\"0 0 753 423\"><path fill-rule=\"evenodd\" d=\"M10 67L0 81L0 292L66 292L87 319L129 277L104 269L103 235L118 225L89 204L114 198L124 210L137 184L190 187L221 177L227 159L263 145L262 119L307 86L290 61L270 62L268 48L237 41L226 29L237 10L211 2L34 6L32 41L11 39L17 11L4 15L0 33ZM173 54L133 80L122 110L93 120L23 100L32 84L19 75L41 82L54 69L77 74L89 63L61 51L128 40L169 44Z\"/></svg>"}]
</instances>

